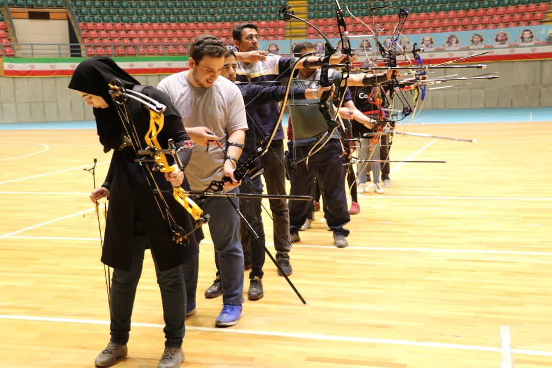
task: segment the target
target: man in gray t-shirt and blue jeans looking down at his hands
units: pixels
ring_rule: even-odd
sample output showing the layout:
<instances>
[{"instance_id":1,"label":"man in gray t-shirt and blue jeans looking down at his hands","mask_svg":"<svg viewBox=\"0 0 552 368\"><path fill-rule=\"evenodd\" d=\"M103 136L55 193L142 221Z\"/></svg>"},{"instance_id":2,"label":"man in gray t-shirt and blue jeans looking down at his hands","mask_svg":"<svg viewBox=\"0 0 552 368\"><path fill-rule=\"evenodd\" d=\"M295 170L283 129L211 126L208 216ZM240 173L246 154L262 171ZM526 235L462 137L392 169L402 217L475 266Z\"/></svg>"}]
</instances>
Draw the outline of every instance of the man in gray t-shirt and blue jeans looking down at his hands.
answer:
<instances>
[{"instance_id":1,"label":"man in gray t-shirt and blue jeans looking down at his hands","mask_svg":"<svg viewBox=\"0 0 552 368\"><path fill-rule=\"evenodd\" d=\"M214 135L226 153L213 145L205 148L194 146L192 158L185 175L194 191L204 191L212 180L230 177L225 191L237 193L238 183L233 177L241 148L245 141L247 120L240 90L226 78L219 78L226 47L211 35L199 36L190 47L190 70L164 78L158 89L167 93L182 116L185 127L205 126ZM193 139L193 136L190 135ZM237 199L232 199L238 205ZM240 217L226 198L207 198L201 204L211 216L209 231L220 264L222 283L222 311L215 326L233 326L243 315L243 250L240 243ZM198 258L184 265L187 289L187 316L195 313Z\"/></svg>"}]
</instances>

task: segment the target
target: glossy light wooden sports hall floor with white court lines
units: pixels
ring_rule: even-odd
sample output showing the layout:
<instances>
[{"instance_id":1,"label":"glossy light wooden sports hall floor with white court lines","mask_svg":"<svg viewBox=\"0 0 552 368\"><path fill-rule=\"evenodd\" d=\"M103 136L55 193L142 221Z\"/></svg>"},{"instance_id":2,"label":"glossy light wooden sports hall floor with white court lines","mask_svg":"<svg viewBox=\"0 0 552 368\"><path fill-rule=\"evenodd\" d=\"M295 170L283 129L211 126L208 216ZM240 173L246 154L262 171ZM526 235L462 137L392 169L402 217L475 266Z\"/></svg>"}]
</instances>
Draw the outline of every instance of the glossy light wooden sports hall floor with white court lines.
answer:
<instances>
[{"instance_id":1,"label":"glossy light wooden sports hall floor with white court lines","mask_svg":"<svg viewBox=\"0 0 552 368\"><path fill-rule=\"evenodd\" d=\"M317 212L291 252L306 306L267 259L265 297L215 329L207 239L183 366L552 366L552 125L402 129L477 143L396 136L392 159L449 163L394 164L392 188L360 195L348 248L332 246ZM97 157L101 182L109 157L92 130L2 131L0 142L0 367L92 367L109 314L82 168ZM156 367L163 319L149 254L132 321L117 366Z\"/></svg>"}]
</instances>

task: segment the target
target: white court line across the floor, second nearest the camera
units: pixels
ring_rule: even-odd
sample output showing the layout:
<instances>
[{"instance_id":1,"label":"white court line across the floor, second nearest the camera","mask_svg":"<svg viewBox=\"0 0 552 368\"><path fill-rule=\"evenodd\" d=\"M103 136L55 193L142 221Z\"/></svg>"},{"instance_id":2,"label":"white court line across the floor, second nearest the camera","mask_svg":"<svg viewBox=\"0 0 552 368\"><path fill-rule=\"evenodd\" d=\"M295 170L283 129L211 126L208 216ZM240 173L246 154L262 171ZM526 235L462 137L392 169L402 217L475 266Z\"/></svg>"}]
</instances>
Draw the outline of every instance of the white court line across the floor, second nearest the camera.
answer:
<instances>
[{"instance_id":1,"label":"white court line across the floor, second nearest the camera","mask_svg":"<svg viewBox=\"0 0 552 368\"><path fill-rule=\"evenodd\" d=\"M66 241L87 241L99 242L100 238L86 237L64 237L64 236L4 236L9 239L28 239L28 240L66 240ZM202 240L201 244L213 244L210 240ZM274 243L266 243L267 246L274 246ZM485 249L437 249L437 248L390 248L390 247L347 247L343 249L335 246L320 246L315 244L292 244L292 248L317 248L337 250L338 252L347 252L346 249L354 250L376 250L384 252L420 252L420 253L473 253L473 254L503 254L503 255L544 255L552 257L552 252L520 252L518 250L485 250Z\"/></svg>"}]
</instances>

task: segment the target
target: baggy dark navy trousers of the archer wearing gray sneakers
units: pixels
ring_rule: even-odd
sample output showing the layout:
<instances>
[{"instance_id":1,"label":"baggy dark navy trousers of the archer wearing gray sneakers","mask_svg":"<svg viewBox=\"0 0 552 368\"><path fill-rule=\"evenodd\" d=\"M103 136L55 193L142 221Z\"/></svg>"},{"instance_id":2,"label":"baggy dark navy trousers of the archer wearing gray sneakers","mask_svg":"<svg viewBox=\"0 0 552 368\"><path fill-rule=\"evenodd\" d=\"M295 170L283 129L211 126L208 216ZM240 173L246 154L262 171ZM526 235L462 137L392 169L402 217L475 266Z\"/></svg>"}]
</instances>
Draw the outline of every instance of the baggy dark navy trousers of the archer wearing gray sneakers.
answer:
<instances>
[{"instance_id":1,"label":"baggy dark navy trousers of the archer wearing gray sneakers","mask_svg":"<svg viewBox=\"0 0 552 368\"><path fill-rule=\"evenodd\" d=\"M305 157L312 146L296 147L296 159ZM328 226L334 233L348 236L344 226L351 221L345 197L345 175L343 169L343 150L338 139L332 138L319 152L309 159L309 169L305 162L299 164L296 172L290 174L291 195L311 195L312 181L320 183L324 213ZM298 233L307 218L309 202L289 202L289 231Z\"/></svg>"}]
</instances>

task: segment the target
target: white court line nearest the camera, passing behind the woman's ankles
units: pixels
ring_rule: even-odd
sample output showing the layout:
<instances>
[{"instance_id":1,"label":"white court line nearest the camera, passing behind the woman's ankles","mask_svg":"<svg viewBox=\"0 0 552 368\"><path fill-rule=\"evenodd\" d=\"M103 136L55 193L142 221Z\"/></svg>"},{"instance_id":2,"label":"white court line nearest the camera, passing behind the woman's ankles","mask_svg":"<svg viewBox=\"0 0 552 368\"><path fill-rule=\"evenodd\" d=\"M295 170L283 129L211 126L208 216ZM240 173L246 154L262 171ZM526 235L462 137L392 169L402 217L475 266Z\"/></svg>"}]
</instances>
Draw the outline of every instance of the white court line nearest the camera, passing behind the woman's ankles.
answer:
<instances>
[{"instance_id":1,"label":"white court line nearest the camera, passing behind the woman's ankles","mask_svg":"<svg viewBox=\"0 0 552 368\"><path fill-rule=\"evenodd\" d=\"M76 318L57 318L57 317L38 317L38 316L15 316L15 315L9 315L9 314L0 314L0 319L15 319L15 320L20 320L20 321L41 321L41 322L60 322L60 323L82 323L82 324L109 325L109 321L100 321L98 319L76 319ZM134 327L147 327L147 328L160 328L160 329L164 328L163 324L157 324L157 323L136 323L136 322L132 322L131 326L134 326ZM242 334L242 335L262 335L262 336L287 337L287 338L309 339L309 340L341 341L341 342L351 342L351 343L372 343L372 344L375 343L375 344L390 344L390 345L422 346L424 348L492 351L492 352L495 352L495 353L500 353L502 351L501 348L493 348L492 346L432 343L432 342L411 341L411 340L378 339L378 338L370 338L370 337L352 337L352 336L338 336L338 335L321 335L321 334L290 333L290 332L272 332L272 331L259 331L259 330L243 330L243 329L235 329L235 328L215 328L215 327L195 327L195 326L186 326L186 329L189 330L189 331L218 332L218 333ZM538 355L538 356L552 356L552 351L542 351L542 350L512 349L512 353Z\"/></svg>"}]
</instances>

